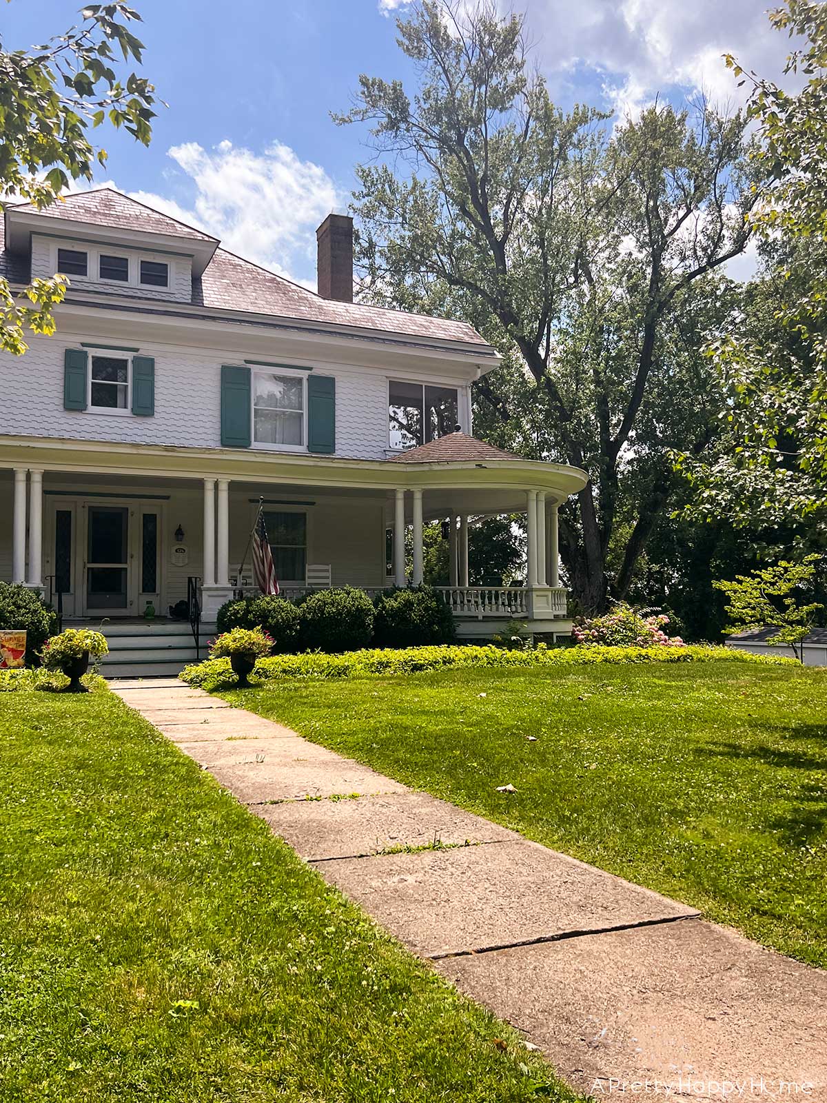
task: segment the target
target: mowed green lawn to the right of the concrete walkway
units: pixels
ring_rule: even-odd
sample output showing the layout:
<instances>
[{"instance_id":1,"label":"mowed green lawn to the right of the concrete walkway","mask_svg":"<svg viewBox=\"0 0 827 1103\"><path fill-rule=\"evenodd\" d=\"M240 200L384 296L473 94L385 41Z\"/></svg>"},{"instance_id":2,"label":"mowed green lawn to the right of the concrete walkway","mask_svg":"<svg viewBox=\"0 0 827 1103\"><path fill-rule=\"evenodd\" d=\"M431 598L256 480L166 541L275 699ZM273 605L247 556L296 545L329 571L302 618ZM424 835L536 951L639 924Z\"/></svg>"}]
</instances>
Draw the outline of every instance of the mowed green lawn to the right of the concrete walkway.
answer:
<instances>
[{"instance_id":1,"label":"mowed green lawn to the right of the concrete walkway","mask_svg":"<svg viewBox=\"0 0 827 1103\"><path fill-rule=\"evenodd\" d=\"M826 671L463 670L224 695L827 966Z\"/></svg>"}]
</instances>

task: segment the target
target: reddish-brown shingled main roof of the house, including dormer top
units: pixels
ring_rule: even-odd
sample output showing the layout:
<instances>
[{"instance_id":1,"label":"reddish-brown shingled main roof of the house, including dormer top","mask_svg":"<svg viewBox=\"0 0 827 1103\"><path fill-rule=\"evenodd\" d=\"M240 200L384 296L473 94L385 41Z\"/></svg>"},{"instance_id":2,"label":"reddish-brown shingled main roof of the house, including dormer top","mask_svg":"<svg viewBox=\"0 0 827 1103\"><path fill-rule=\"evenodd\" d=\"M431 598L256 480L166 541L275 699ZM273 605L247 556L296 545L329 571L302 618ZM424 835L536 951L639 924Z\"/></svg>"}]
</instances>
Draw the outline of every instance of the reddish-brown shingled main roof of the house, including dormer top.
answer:
<instances>
[{"instance_id":1,"label":"reddish-brown shingled main roof of the house, including dormer top","mask_svg":"<svg viewBox=\"0 0 827 1103\"><path fill-rule=\"evenodd\" d=\"M92 226L167 234L201 243L217 242L217 238L110 188L76 192L67 195L64 202L52 203L42 211L37 211L30 203L17 204L9 210L43 218L71 219ZM0 274L7 275L13 282L28 282L28 260L24 261L22 254L9 255L3 250L0 257ZM82 288L78 286L77 290ZM158 300L153 298L152 302L157 303ZM203 275L193 276L191 302L195 307L215 310L270 314L277 318L348 325L384 333L401 333L407 336L460 341L464 344L484 346L486 356L495 355L487 342L466 322L358 302L324 299L305 287L222 248L215 249Z\"/></svg>"}]
</instances>

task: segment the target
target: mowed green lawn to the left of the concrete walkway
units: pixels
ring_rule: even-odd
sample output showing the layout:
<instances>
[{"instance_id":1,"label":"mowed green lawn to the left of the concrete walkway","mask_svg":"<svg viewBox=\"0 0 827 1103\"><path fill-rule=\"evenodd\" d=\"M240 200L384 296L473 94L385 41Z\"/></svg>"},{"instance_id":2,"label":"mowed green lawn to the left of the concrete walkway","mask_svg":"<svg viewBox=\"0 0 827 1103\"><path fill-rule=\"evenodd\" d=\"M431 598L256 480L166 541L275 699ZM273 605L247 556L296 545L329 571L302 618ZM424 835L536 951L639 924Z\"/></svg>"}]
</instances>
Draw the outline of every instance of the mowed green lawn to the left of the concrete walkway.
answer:
<instances>
[{"instance_id":1,"label":"mowed green lawn to the left of the concrete walkway","mask_svg":"<svg viewBox=\"0 0 827 1103\"><path fill-rule=\"evenodd\" d=\"M570 1099L108 690L0 695L0 1100Z\"/></svg>"}]
</instances>

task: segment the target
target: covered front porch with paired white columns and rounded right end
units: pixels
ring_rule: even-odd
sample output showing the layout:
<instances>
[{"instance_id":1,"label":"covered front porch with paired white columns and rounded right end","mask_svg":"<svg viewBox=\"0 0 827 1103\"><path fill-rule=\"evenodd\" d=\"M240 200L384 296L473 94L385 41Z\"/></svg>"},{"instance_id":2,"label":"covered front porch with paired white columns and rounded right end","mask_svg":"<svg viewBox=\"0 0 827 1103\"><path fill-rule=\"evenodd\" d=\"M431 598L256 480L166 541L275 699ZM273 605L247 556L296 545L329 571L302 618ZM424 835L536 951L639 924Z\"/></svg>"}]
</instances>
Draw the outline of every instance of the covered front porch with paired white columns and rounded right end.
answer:
<instances>
[{"instance_id":1,"label":"covered front porch with paired white columns and rounded right end","mask_svg":"<svg viewBox=\"0 0 827 1103\"><path fill-rule=\"evenodd\" d=\"M66 619L185 621L197 598L202 622L214 624L225 601L255 590L248 537L261 503L287 599L320 587L374 593L420 585L423 525L441 521L450 585L438 589L461 636L491 636L514 619L533 632L570 630L557 508L571 469L172 448L129 454L121 446L45 441L17 449L7 441L0 462L9 522L0 578L60 601ZM526 517L526 585L470 585L472 518L517 512Z\"/></svg>"}]
</instances>

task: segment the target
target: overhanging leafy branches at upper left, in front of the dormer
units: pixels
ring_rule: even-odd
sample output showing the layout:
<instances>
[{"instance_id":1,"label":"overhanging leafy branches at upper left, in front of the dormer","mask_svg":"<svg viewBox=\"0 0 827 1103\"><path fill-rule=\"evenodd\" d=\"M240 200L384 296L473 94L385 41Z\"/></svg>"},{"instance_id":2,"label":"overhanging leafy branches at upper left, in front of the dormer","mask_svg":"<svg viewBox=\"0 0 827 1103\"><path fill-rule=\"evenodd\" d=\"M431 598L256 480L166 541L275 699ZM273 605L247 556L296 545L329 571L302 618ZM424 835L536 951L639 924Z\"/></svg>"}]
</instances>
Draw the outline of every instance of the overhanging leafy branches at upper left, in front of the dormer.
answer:
<instances>
[{"instance_id":1,"label":"overhanging leafy branches at upper left, in front of the dormer","mask_svg":"<svg viewBox=\"0 0 827 1103\"><path fill-rule=\"evenodd\" d=\"M122 0L89 4L82 22L31 52L0 42L0 195L37 207L60 202L69 180L92 180L106 151L89 131L109 122L148 144L154 88L128 73L143 44L129 24L140 20ZM121 72L123 69L123 72ZM18 299L0 278L0 349L25 352L26 330L53 333L53 308L66 279L35 279ZM26 301L28 300L28 301Z\"/></svg>"}]
</instances>

